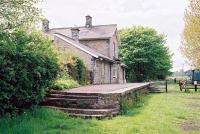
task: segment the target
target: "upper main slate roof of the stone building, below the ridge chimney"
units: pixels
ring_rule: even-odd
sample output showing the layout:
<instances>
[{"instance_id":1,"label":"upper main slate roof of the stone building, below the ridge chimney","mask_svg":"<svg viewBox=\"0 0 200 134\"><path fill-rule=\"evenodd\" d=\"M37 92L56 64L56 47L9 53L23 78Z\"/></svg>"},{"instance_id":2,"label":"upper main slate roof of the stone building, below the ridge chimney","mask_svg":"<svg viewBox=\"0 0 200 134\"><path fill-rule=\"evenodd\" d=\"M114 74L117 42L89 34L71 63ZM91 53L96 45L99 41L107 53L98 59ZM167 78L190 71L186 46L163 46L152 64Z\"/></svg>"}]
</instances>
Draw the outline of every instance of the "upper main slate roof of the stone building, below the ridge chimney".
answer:
<instances>
[{"instance_id":1,"label":"upper main slate roof of the stone building, below the ridge chimney","mask_svg":"<svg viewBox=\"0 0 200 134\"><path fill-rule=\"evenodd\" d=\"M60 33L62 35L71 37L71 28L79 28L79 40L87 39L108 39L113 37L117 30L116 24L110 25L96 25L92 28L81 27L68 27L68 28L53 28L48 31L48 34Z\"/></svg>"}]
</instances>

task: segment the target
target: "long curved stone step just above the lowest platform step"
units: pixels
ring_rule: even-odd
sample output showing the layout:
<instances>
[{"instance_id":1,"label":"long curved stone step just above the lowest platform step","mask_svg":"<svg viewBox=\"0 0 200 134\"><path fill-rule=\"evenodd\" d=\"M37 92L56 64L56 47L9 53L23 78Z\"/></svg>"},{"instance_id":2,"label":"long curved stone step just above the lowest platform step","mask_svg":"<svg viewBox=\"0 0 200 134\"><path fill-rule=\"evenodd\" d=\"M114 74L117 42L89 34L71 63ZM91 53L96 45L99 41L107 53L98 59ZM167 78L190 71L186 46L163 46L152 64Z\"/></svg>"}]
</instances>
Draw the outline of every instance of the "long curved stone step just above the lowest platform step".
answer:
<instances>
[{"instance_id":1,"label":"long curved stone step just above the lowest platform step","mask_svg":"<svg viewBox=\"0 0 200 134\"><path fill-rule=\"evenodd\" d=\"M57 110L64 111L69 114L86 114L86 115L113 115L119 113L119 108L113 109L79 109L79 108L62 108L62 107L49 107Z\"/></svg>"}]
</instances>

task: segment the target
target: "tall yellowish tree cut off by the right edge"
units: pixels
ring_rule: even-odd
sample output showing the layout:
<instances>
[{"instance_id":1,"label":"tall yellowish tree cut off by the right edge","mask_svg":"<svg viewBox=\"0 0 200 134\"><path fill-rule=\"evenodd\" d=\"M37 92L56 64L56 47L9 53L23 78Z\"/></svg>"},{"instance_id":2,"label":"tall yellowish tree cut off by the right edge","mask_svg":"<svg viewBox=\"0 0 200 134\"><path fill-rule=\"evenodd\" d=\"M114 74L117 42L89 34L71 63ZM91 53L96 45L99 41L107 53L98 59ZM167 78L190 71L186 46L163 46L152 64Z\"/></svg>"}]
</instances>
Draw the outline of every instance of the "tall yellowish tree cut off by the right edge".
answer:
<instances>
[{"instance_id":1,"label":"tall yellowish tree cut off by the right edge","mask_svg":"<svg viewBox=\"0 0 200 134\"><path fill-rule=\"evenodd\" d=\"M200 69L200 0L189 0L181 51L192 66Z\"/></svg>"}]
</instances>

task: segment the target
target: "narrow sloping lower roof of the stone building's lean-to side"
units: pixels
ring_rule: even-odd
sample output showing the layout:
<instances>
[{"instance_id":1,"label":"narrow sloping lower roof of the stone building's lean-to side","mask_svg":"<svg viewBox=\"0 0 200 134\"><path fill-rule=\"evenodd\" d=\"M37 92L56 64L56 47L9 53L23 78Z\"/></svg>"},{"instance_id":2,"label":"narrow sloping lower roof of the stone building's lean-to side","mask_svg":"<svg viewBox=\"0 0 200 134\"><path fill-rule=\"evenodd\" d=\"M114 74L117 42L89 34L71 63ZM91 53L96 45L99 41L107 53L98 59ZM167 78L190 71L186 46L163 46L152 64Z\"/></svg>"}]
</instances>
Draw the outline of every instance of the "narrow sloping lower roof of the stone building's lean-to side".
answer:
<instances>
[{"instance_id":1,"label":"narrow sloping lower roof of the stone building's lean-to side","mask_svg":"<svg viewBox=\"0 0 200 134\"><path fill-rule=\"evenodd\" d=\"M60 33L54 33L54 36L62 39L63 41L73 45L74 47L76 47L76 48L88 53L89 55L91 55L91 56L93 56L95 58L103 58L104 60L107 60L109 62L114 62L113 59L111 59L111 58L109 58L109 57L107 57L107 56L105 56L103 54L100 54L99 52L95 51L94 49L91 49L91 48L89 48L89 47L87 47L87 46L85 46L85 45L73 40L70 37L67 37L67 36L65 36L63 34L60 34Z\"/></svg>"}]
</instances>

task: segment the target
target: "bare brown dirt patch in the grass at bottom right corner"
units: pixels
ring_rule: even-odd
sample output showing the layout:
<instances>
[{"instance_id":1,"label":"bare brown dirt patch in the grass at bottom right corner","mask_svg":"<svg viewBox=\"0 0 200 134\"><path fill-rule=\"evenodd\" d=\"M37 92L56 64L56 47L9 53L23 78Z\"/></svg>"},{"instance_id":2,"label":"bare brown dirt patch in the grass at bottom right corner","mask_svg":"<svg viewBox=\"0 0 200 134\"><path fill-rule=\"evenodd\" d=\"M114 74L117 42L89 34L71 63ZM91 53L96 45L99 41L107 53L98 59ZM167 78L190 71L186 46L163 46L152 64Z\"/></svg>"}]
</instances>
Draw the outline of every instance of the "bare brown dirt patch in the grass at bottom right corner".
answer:
<instances>
[{"instance_id":1,"label":"bare brown dirt patch in the grass at bottom right corner","mask_svg":"<svg viewBox=\"0 0 200 134\"><path fill-rule=\"evenodd\" d=\"M181 124L183 131L200 131L200 120L189 120Z\"/></svg>"}]
</instances>

